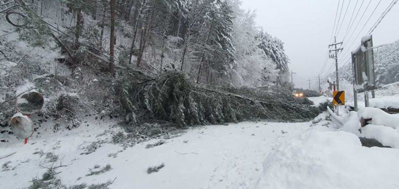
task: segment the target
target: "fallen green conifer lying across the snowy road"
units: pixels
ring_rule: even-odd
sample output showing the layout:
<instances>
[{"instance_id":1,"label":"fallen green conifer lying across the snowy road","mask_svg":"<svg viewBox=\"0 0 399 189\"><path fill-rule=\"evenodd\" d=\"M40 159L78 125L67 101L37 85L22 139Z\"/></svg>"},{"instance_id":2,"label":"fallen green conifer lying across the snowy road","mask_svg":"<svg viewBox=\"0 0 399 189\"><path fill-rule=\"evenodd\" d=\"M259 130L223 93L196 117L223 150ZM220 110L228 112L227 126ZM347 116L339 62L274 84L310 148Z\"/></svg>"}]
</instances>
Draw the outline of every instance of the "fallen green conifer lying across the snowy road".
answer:
<instances>
[{"instance_id":1,"label":"fallen green conifer lying across the snowy road","mask_svg":"<svg viewBox=\"0 0 399 189\"><path fill-rule=\"evenodd\" d=\"M279 122L308 121L322 110L308 99L292 94L252 88L199 85L184 73L166 72L158 79L137 79L125 73L117 93L128 114L129 126L158 123L177 128L265 119Z\"/></svg>"}]
</instances>

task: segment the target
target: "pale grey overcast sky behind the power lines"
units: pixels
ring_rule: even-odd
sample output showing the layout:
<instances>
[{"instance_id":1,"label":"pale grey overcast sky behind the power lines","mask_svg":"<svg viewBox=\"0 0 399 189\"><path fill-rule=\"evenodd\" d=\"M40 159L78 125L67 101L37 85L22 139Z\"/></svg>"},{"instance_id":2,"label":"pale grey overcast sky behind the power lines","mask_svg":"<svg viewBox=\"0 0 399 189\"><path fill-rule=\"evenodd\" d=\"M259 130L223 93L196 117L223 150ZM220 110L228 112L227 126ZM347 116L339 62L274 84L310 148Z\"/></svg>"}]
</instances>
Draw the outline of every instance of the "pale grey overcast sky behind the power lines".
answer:
<instances>
[{"instance_id":1,"label":"pale grey overcast sky behind the power lines","mask_svg":"<svg viewBox=\"0 0 399 189\"><path fill-rule=\"evenodd\" d=\"M306 80L310 77L313 80L312 82L316 82L316 77L324 65L338 1L339 0L242 0L242 7L245 9L254 9L257 14L256 19L258 25L271 35L280 38L285 43L286 53L291 60L289 67L297 73L294 75L294 83L297 87L308 88ZM353 18L355 18L362 1L363 0L340 0L337 22L342 4L343 8L338 28L341 23L343 24L341 30L338 29L337 41L340 42L343 40L352 12L354 12ZM371 3L366 10L369 2ZM367 34L367 31L387 9L392 0L381 0L381 3L377 6L379 2L380 0L364 0L358 16L344 40L346 46L344 46L344 51L339 55L340 65L348 62L350 58L349 52L356 48L358 43L360 44L361 37ZM356 11L354 11L356 3L357 7ZM348 10L345 15L347 7ZM377 9L372 15L376 7ZM365 14L360 20L364 12ZM370 15L372 16L366 23ZM391 43L399 39L398 18L399 3L392 8L373 32L374 45ZM359 25L355 31L355 27L358 23ZM365 23L366 26L363 31L361 31ZM361 34L356 37L359 32L361 32ZM353 45L351 46L351 44ZM344 57L347 57L345 61L343 60ZM333 59L328 60L322 75L335 70L335 64L333 62Z\"/></svg>"}]
</instances>

